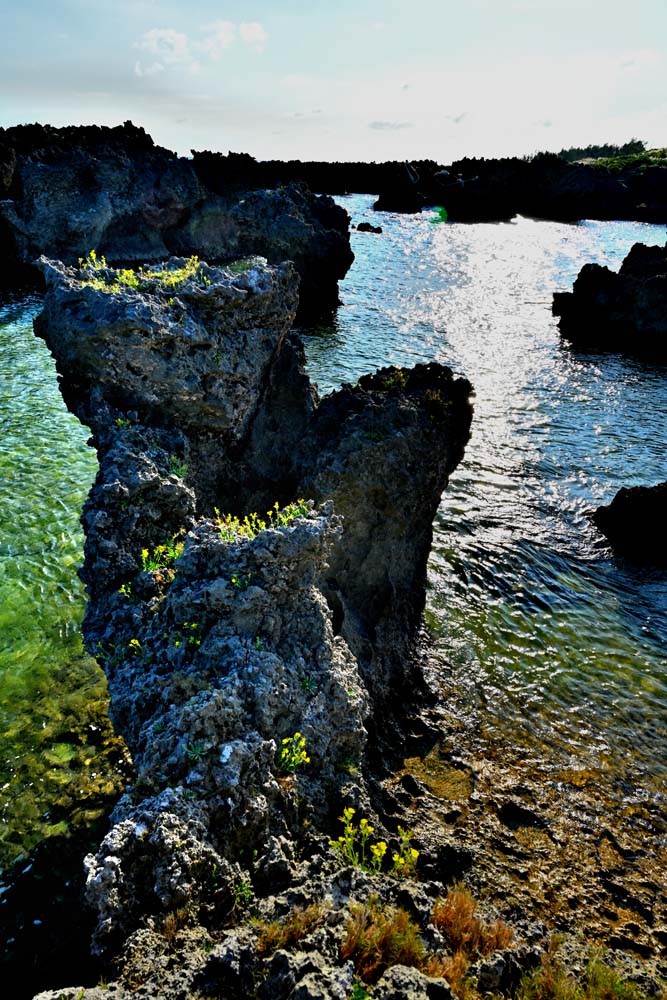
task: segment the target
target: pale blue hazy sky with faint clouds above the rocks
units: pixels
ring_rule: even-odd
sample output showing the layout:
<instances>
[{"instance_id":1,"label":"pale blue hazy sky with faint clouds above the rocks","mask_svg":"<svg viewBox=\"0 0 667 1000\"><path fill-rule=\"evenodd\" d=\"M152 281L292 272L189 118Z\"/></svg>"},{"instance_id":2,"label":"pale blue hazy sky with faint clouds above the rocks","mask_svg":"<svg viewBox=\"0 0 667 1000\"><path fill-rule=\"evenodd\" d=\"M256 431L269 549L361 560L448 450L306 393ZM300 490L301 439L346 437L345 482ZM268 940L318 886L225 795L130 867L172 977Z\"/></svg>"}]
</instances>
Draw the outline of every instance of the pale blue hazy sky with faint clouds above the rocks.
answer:
<instances>
[{"instance_id":1,"label":"pale blue hazy sky with faint clouds above the rocks","mask_svg":"<svg viewBox=\"0 0 667 1000\"><path fill-rule=\"evenodd\" d=\"M22 0L0 125L258 159L667 145L667 0Z\"/></svg>"}]
</instances>

